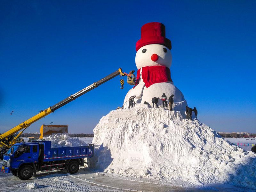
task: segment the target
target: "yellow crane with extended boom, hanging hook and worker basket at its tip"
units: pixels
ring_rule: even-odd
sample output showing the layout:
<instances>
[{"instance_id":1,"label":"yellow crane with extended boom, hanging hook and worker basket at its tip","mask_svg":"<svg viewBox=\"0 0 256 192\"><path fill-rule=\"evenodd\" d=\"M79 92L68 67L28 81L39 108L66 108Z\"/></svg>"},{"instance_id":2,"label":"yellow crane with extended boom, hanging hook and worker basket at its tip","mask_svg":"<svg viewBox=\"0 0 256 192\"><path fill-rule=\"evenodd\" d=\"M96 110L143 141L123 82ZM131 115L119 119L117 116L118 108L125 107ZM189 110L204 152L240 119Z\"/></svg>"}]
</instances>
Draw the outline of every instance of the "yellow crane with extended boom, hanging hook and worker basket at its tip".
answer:
<instances>
[{"instance_id":1,"label":"yellow crane with extended boom, hanging hook and worker basket at its tip","mask_svg":"<svg viewBox=\"0 0 256 192\"><path fill-rule=\"evenodd\" d=\"M104 77L103 79L100 79L97 82L94 82L93 84L85 87L84 89L80 90L79 92L76 92L73 95L70 95L66 99L60 101L59 103L56 103L55 105L44 109L40 111L37 115L31 117L30 119L20 123L19 125L13 127L12 129L0 134L0 157L1 159L3 158L4 153L15 143L19 143L22 140L20 139L20 135L24 132L25 129L28 128L32 123L38 121L39 119L49 115L50 113L54 112L55 110L61 108L62 106L68 104L69 102L75 100L76 98L80 97L81 95L91 91L92 89L100 86L101 84L107 82L108 80L116 77L116 76L127 76L127 82L128 84L134 85L135 84L135 78L132 78L133 80L131 81L131 76L133 74L127 74L123 73L122 69L119 68L115 72L111 73L110 75ZM121 79L121 89L123 88L123 83L124 81ZM20 132L19 132L20 131ZM41 135L42 136L42 135Z\"/></svg>"}]
</instances>

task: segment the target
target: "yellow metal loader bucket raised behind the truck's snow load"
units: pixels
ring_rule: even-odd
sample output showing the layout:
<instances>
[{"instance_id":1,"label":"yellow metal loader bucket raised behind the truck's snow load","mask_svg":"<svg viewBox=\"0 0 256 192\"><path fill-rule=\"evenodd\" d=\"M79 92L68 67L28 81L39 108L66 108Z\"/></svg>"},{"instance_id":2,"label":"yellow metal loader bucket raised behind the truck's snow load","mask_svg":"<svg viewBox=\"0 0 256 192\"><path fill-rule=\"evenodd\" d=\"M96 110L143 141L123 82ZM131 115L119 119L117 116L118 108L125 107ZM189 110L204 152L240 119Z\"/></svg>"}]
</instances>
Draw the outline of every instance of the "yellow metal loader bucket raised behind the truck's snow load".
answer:
<instances>
[{"instance_id":1,"label":"yellow metal loader bucket raised behind the truck's snow load","mask_svg":"<svg viewBox=\"0 0 256 192\"><path fill-rule=\"evenodd\" d=\"M68 133L68 125L42 125L39 139L52 135L52 133Z\"/></svg>"}]
</instances>

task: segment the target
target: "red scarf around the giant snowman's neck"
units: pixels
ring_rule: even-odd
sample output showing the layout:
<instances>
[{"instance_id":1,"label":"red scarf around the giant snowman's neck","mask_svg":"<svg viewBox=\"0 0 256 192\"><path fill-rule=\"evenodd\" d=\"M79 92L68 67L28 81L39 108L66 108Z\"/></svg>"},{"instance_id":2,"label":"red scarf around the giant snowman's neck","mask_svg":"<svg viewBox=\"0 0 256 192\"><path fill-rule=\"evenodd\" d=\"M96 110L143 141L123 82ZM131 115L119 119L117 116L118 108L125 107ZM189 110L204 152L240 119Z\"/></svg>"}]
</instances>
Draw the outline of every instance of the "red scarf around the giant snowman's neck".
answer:
<instances>
[{"instance_id":1,"label":"red scarf around the giant snowman's neck","mask_svg":"<svg viewBox=\"0 0 256 192\"><path fill-rule=\"evenodd\" d=\"M171 71L168 67L165 66L143 67L141 76L146 87L149 87L155 83L164 83L168 81L172 82ZM139 81L140 69L137 71L136 85L139 84Z\"/></svg>"}]
</instances>

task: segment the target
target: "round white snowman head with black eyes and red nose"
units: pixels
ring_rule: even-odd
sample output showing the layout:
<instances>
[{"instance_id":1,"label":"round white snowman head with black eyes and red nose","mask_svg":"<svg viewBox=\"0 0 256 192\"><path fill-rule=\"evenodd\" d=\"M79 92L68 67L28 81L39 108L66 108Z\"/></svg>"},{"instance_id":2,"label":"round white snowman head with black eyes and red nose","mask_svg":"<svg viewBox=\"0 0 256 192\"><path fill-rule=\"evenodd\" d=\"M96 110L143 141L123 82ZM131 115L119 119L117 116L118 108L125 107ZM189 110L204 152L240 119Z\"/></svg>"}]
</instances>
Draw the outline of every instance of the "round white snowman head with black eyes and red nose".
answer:
<instances>
[{"instance_id":1,"label":"round white snowman head with black eyes and red nose","mask_svg":"<svg viewBox=\"0 0 256 192\"><path fill-rule=\"evenodd\" d=\"M138 69L147 66L172 65L172 53L170 49L161 44L149 44L141 47L135 56L135 63Z\"/></svg>"}]
</instances>

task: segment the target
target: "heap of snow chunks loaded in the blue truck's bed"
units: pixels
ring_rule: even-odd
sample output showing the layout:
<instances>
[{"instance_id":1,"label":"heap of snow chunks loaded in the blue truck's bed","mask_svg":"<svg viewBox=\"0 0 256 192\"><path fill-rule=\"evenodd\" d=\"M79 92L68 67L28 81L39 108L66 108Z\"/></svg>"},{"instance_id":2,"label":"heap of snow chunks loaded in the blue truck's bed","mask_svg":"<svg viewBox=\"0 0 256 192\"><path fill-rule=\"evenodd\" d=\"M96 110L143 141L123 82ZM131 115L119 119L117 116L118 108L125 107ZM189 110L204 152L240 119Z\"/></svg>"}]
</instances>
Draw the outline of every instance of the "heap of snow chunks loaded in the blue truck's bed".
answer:
<instances>
[{"instance_id":1,"label":"heap of snow chunks loaded in the blue truck's bed","mask_svg":"<svg viewBox=\"0 0 256 192\"><path fill-rule=\"evenodd\" d=\"M87 146L84 141L76 138L69 138L67 133L55 133L48 137L43 138L46 141L52 141L51 147L77 147L77 146Z\"/></svg>"}]
</instances>

